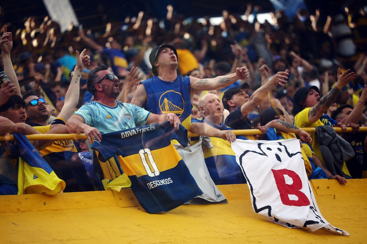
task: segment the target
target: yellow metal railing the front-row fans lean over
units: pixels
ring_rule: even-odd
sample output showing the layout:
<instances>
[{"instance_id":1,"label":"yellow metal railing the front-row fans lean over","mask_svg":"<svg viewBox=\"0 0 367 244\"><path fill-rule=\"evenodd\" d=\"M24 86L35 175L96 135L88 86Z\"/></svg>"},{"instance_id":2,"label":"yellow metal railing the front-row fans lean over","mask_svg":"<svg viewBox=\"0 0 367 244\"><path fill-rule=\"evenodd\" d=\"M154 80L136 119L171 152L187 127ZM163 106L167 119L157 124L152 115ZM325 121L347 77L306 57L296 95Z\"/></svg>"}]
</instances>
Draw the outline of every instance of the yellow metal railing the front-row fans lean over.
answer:
<instances>
[{"instance_id":1,"label":"yellow metal railing the front-row fans lean over","mask_svg":"<svg viewBox=\"0 0 367 244\"><path fill-rule=\"evenodd\" d=\"M307 133L315 133L316 128L302 128ZM335 132L341 133L342 130L339 127L335 127ZM251 129L251 130L232 130L235 135L258 135L263 134L258 129ZM346 133L352 132L351 127L347 127ZM360 127L358 132L367 132L367 127ZM188 137L198 136L195 133L188 132ZM30 134L26 135L28 140L80 140L86 139L87 136L85 134ZM5 135L0 136L0 141L11 141L14 140L13 135Z\"/></svg>"}]
</instances>

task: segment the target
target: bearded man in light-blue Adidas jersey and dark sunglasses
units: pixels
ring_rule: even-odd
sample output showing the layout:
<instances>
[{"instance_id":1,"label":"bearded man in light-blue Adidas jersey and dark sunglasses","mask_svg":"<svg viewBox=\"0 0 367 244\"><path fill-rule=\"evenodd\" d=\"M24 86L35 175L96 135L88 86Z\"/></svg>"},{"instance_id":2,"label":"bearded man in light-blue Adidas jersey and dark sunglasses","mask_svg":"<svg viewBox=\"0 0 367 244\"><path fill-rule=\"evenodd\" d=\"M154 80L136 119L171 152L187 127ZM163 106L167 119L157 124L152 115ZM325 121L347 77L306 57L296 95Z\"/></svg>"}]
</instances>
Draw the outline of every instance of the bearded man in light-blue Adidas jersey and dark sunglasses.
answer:
<instances>
[{"instance_id":1,"label":"bearded man in light-blue Adidas jersey and dark sunglasses","mask_svg":"<svg viewBox=\"0 0 367 244\"><path fill-rule=\"evenodd\" d=\"M94 138L101 141L101 132L109 133L164 121L170 121L171 125L177 127L179 119L172 113L152 114L133 104L116 101L120 94L120 81L107 68L101 64L89 73L87 89L94 95L95 101L83 105L70 117L66 125L71 132L85 133L92 144Z\"/></svg>"}]
</instances>

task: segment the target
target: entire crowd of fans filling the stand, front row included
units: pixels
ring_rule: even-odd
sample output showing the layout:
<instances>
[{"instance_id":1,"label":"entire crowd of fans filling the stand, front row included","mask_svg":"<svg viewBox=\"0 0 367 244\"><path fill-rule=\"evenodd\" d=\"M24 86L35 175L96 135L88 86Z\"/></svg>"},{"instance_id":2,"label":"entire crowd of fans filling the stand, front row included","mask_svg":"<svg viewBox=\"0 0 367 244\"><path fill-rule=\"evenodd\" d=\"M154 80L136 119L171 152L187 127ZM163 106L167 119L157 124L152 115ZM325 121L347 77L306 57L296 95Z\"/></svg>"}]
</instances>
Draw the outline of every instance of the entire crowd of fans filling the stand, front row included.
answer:
<instances>
[{"instance_id":1,"label":"entire crowd of fans filling the stand, front row included","mask_svg":"<svg viewBox=\"0 0 367 244\"><path fill-rule=\"evenodd\" d=\"M21 29L1 23L0 69L8 79L0 134L85 133L87 140L32 141L65 181L64 192L102 190L101 180L123 173L111 158L118 169L106 177L92 158L103 133L164 121L199 135L188 147L201 144L215 184L246 183L230 145L236 138L298 138L309 179L366 178L367 134L357 131L367 126L367 7L335 16L301 9L292 21L276 11L273 24L250 23L257 8L248 5L244 18L223 11L220 25L167 8L166 19L139 15L107 23L105 33L77 26L61 33L48 17L30 16ZM255 128L262 134L232 132ZM352 156L327 160L325 133L349 144L338 150ZM1 141L0 195L18 193L13 149Z\"/></svg>"}]
</instances>

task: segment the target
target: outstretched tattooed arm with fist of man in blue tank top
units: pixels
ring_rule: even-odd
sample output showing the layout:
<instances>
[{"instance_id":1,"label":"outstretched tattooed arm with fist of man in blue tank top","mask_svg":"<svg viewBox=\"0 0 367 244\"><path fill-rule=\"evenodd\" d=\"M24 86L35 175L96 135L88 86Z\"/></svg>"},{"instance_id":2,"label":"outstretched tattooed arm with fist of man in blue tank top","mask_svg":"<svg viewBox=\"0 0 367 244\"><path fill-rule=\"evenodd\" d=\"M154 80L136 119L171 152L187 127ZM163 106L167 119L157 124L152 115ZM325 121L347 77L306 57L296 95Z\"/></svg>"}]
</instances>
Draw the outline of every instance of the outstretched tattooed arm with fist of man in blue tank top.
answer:
<instances>
[{"instance_id":1,"label":"outstretched tattooed arm with fist of man in blue tank top","mask_svg":"<svg viewBox=\"0 0 367 244\"><path fill-rule=\"evenodd\" d=\"M222 75L215 78L198 79L190 77L191 94L201 90L216 90L233 84L237 80L245 80L250 76L248 69L244 66L236 69L236 73Z\"/></svg>"}]
</instances>

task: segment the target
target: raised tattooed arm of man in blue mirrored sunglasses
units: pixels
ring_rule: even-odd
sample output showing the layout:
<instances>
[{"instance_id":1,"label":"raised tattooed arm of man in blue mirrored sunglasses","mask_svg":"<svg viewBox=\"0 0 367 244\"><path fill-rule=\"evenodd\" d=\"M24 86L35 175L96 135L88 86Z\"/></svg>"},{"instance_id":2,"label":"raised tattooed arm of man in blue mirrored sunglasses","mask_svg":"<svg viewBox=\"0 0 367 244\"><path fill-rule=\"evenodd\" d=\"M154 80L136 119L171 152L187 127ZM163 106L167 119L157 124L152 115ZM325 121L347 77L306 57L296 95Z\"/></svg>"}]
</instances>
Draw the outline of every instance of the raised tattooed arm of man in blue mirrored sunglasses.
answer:
<instances>
[{"instance_id":1,"label":"raised tattooed arm of man in blue mirrored sunglasses","mask_svg":"<svg viewBox=\"0 0 367 244\"><path fill-rule=\"evenodd\" d=\"M79 82L81 71L83 71L85 64L90 63L90 56L84 55L87 49L84 49L80 54L76 52L76 66L74 69L73 77L70 81L70 86L65 94L65 103L62 107L58 117L67 121L70 116L75 112L75 108L79 102Z\"/></svg>"}]
</instances>

